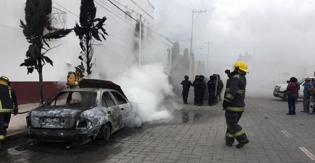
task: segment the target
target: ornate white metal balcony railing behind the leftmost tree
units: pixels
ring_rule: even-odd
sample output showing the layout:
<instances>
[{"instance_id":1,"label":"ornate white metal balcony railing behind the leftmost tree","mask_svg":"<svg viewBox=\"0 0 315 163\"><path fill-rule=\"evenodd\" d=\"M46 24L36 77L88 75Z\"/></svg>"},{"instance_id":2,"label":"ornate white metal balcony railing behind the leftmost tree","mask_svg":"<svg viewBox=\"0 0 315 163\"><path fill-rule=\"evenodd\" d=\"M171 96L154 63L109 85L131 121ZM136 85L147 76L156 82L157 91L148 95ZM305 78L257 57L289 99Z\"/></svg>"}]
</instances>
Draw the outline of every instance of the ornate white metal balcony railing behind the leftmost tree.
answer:
<instances>
[{"instance_id":1,"label":"ornate white metal balcony railing behind the leftmost tree","mask_svg":"<svg viewBox=\"0 0 315 163\"><path fill-rule=\"evenodd\" d=\"M66 24L67 13L58 9L58 8L51 8L50 14L50 23L53 30L58 31L62 28L67 28Z\"/></svg>"}]
</instances>

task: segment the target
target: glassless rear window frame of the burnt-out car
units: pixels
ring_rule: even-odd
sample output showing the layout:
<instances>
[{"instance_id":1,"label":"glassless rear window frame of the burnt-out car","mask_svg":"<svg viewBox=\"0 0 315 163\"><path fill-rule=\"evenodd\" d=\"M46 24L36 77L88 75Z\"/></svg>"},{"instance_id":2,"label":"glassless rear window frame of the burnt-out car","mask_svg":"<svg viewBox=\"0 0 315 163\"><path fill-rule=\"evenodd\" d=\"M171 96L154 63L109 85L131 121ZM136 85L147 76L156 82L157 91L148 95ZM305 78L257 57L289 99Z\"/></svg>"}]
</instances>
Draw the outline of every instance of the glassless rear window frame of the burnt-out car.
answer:
<instances>
[{"instance_id":1,"label":"glassless rear window frame of the burnt-out car","mask_svg":"<svg viewBox=\"0 0 315 163\"><path fill-rule=\"evenodd\" d=\"M93 105L91 106L79 106L79 108L94 108L96 104L96 98L97 98L97 92L95 91L65 91L65 92L59 92L56 93L53 97L51 97L47 102L44 104L44 107L67 107L67 108L78 108L78 106L71 106L70 105L56 105L57 99L60 96L63 96L64 94L68 93L68 96L73 94L73 93L95 93L95 99L93 101ZM66 100L68 100L69 97L66 97ZM91 99L93 100L93 99ZM53 105L52 105L53 104ZM67 104L67 102L66 102Z\"/></svg>"}]
</instances>

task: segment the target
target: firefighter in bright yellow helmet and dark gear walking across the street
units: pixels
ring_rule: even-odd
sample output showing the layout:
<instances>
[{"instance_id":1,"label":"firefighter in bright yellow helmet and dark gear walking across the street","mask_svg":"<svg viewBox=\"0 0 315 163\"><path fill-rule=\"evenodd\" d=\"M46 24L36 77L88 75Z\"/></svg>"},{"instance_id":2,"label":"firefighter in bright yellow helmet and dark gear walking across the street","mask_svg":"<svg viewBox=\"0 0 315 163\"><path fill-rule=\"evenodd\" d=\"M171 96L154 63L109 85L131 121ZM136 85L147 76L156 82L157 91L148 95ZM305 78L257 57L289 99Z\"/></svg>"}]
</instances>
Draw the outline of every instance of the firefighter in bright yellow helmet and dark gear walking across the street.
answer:
<instances>
[{"instance_id":1,"label":"firefighter in bright yellow helmet and dark gear walking across the street","mask_svg":"<svg viewBox=\"0 0 315 163\"><path fill-rule=\"evenodd\" d=\"M229 77L226 82L223 100L223 110L225 110L227 126L225 143L231 147L236 139L238 141L236 147L241 148L249 143L242 126L238 125L238 121L245 110L245 75L248 73L248 70L245 62L236 62L232 67L234 67L233 72L225 70Z\"/></svg>"}]
</instances>

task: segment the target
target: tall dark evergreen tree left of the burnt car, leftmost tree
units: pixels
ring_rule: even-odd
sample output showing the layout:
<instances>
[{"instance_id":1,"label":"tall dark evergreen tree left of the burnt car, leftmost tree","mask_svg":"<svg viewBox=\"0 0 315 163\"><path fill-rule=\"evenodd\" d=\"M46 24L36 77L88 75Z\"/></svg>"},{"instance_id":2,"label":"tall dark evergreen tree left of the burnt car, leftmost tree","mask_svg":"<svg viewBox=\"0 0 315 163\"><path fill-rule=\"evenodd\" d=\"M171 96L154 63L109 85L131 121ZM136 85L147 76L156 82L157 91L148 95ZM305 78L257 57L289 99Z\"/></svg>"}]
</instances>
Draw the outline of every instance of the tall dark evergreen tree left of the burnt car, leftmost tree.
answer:
<instances>
[{"instance_id":1,"label":"tall dark evergreen tree left of the burnt car, leftmost tree","mask_svg":"<svg viewBox=\"0 0 315 163\"><path fill-rule=\"evenodd\" d=\"M53 66L53 61L45 56L52 49L48 42L51 39L65 37L72 29L60 29L53 32L50 28L51 0L26 0L24 10L26 24L20 20L20 27L23 28L23 34L30 46L26 52L26 59L20 66L27 67L27 74L32 73L34 69L37 70L40 90L39 104L43 104L43 66L46 65L46 62ZM44 31L48 31L48 33L44 34Z\"/></svg>"}]
</instances>

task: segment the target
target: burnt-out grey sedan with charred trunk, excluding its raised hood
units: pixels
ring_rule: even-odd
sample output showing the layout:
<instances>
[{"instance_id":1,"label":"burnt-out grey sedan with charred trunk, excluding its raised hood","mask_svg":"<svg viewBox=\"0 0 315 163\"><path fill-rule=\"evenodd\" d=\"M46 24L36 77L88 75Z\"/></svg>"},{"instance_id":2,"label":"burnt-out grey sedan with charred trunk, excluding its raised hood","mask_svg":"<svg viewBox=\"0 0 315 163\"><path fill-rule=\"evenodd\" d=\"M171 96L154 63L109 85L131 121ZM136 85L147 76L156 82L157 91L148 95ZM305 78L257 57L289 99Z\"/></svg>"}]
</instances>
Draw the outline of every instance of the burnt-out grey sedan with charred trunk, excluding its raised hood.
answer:
<instances>
[{"instance_id":1,"label":"burnt-out grey sedan with charred trunk, excluding its raised hood","mask_svg":"<svg viewBox=\"0 0 315 163\"><path fill-rule=\"evenodd\" d=\"M108 139L129 124L133 115L133 104L117 90L67 89L27 114L27 137L47 141Z\"/></svg>"}]
</instances>

